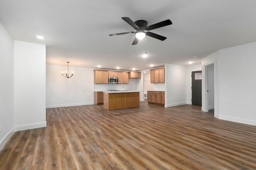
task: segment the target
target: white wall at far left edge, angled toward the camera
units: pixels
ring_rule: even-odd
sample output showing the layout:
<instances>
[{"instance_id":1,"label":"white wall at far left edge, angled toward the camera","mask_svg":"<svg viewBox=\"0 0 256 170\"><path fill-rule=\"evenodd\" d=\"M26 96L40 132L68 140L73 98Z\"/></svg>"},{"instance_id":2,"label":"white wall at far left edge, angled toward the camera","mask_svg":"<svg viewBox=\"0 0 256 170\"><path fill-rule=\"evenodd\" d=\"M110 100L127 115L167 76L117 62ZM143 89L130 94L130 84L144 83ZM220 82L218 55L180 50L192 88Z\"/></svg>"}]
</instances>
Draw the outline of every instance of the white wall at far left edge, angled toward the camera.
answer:
<instances>
[{"instance_id":1,"label":"white wall at far left edge, angled toward the camera","mask_svg":"<svg viewBox=\"0 0 256 170\"><path fill-rule=\"evenodd\" d=\"M14 40L0 23L0 149L14 127Z\"/></svg>"}]
</instances>

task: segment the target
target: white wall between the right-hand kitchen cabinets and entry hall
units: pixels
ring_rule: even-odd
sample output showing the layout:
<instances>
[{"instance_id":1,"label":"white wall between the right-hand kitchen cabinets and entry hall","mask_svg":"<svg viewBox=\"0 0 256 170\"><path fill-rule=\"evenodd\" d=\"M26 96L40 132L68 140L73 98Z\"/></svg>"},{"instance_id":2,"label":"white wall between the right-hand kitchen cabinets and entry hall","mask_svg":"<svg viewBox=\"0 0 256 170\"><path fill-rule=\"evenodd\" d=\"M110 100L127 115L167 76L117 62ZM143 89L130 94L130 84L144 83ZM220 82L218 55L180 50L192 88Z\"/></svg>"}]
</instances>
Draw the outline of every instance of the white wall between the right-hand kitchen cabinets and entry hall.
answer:
<instances>
[{"instance_id":1,"label":"white wall between the right-hand kitchen cabinets and entry hall","mask_svg":"<svg viewBox=\"0 0 256 170\"><path fill-rule=\"evenodd\" d=\"M172 107L187 104L187 67L165 64L165 105Z\"/></svg>"}]
</instances>

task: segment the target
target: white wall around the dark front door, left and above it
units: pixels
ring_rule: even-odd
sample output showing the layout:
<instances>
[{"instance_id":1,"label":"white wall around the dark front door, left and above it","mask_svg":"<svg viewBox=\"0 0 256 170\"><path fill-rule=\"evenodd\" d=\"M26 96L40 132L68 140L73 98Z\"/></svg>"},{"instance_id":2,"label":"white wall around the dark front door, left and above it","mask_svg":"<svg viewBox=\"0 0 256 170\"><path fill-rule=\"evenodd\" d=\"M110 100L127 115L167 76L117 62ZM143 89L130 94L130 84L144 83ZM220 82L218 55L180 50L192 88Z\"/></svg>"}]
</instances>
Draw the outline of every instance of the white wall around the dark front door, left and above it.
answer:
<instances>
[{"instance_id":1,"label":"white wall around the dark front door, left and above it","mask_svg":"<svg viewBox=\"0 0 256 170\"><path fill-rule=\"evenodd\" d=\"M200 71L202 70L202 65L197 64L197 65L188 65L187 66L187 73L186 73L186 79L187 79L187 104L192 105L192 71Z\"/></svg>"}]
</instances>

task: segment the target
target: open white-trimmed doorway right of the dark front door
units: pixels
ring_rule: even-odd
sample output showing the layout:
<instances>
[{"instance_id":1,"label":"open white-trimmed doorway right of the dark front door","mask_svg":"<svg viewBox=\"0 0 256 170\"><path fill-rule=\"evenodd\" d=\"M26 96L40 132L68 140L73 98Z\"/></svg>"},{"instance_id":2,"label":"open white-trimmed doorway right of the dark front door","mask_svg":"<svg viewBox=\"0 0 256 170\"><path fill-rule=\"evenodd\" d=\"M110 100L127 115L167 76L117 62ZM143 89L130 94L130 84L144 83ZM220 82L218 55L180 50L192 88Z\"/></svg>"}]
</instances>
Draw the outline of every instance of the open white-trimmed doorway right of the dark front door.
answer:
<instances>
[{"instance_id":1,"label":"open white-trimmed doorway right of the dark front door","mask_svg":"<svg viewBox=\"0 0 256 170\"><path fill-rule=\"evenodd\" d=\"M205 66L206 112L214 113L214 63Z\"/></svg>"}]
</instances>

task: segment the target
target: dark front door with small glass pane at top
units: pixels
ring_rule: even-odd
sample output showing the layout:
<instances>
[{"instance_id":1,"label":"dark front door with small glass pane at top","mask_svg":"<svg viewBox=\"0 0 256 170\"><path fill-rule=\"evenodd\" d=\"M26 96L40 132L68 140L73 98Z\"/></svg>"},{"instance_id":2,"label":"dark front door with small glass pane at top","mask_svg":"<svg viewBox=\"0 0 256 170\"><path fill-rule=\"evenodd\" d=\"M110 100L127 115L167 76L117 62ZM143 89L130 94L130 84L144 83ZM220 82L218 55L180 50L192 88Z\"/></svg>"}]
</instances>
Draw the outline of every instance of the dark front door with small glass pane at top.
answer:
<instances>
[{"instance_id":1,"label":"dark front door with small glass pane at top","mask_svg":"<svg viewBox=\"0 0 256 170\"><path fill-rule=\"evenodd\" d=\"M192 105L202 105L202 70L192 71Z\"/></svg>"}]
</instances>

